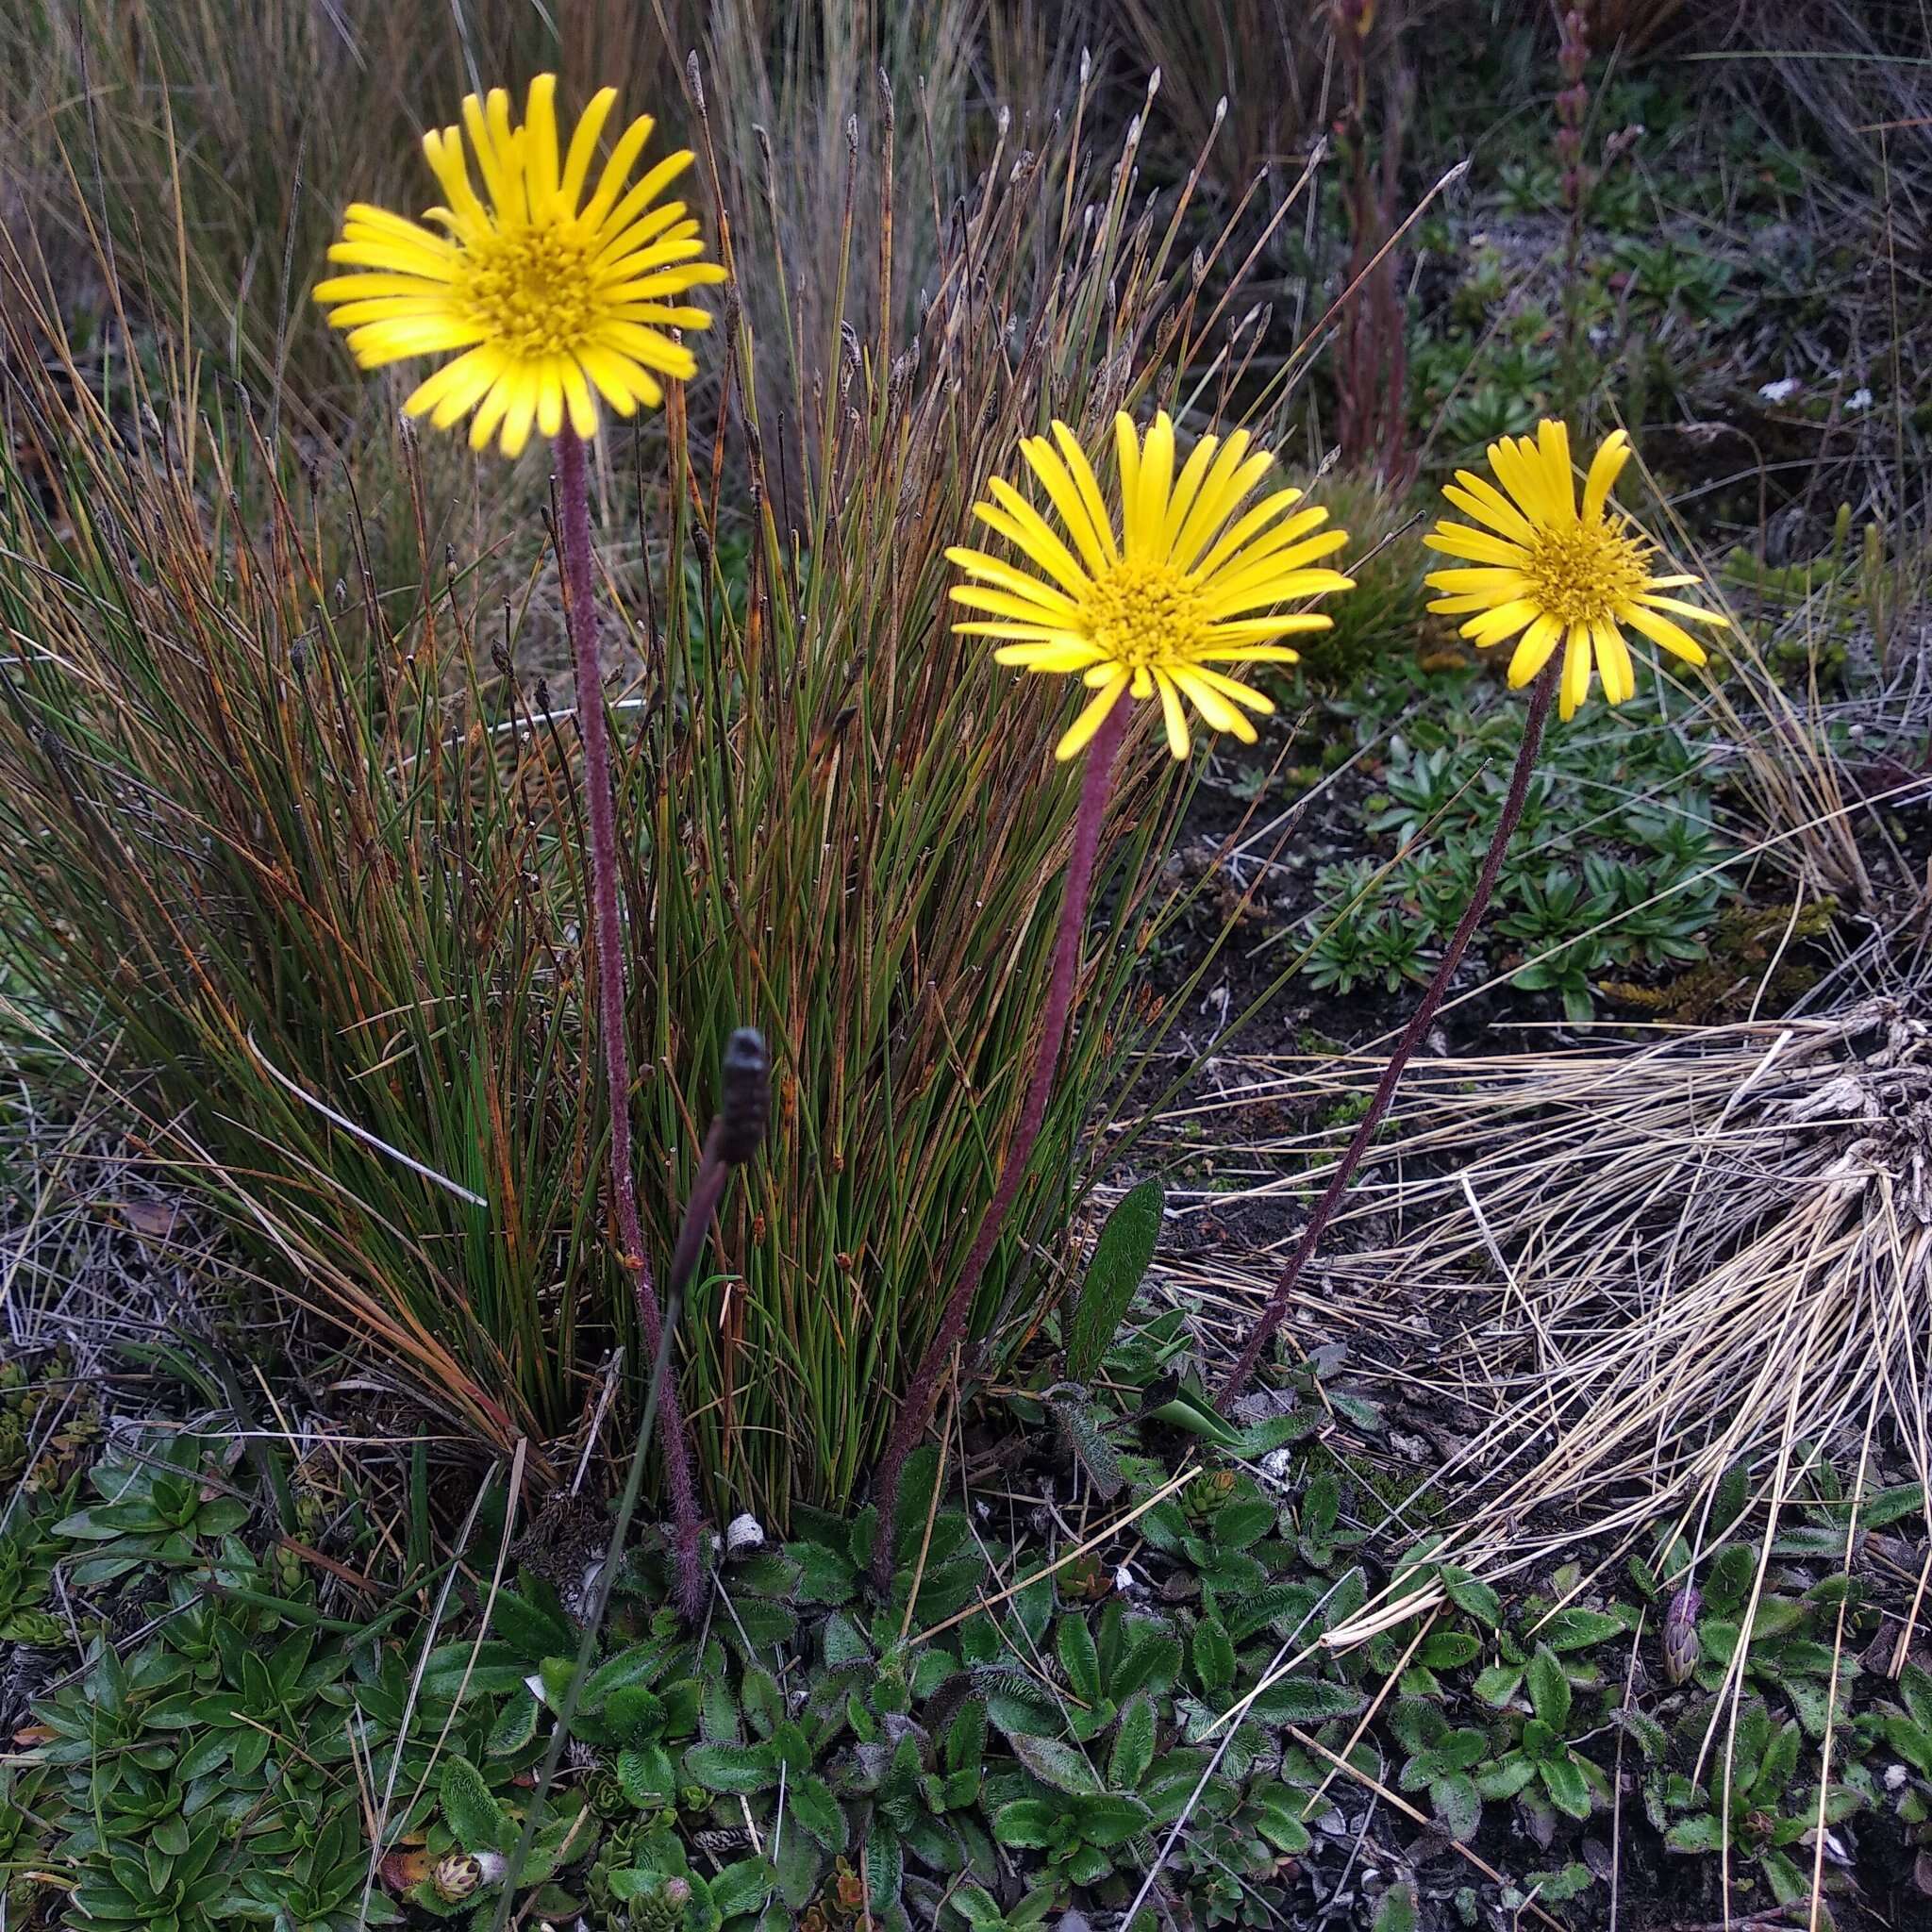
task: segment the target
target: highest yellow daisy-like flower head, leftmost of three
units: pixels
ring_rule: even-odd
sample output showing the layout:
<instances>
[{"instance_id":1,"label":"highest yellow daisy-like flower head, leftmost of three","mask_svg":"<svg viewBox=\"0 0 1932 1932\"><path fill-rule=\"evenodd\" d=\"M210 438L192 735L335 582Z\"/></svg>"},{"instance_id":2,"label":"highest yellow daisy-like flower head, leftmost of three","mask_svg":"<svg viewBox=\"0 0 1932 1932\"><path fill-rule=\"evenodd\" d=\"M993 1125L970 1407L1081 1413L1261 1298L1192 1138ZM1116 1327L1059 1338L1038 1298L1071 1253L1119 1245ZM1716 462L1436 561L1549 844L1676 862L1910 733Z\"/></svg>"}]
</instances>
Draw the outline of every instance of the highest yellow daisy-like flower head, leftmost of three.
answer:
<instances>
[{"instance_id":1,"label":"highest yellow daisy-like flower head, leftmost of three","mask_svg":"<svg viewBox=\"0 0 1932 1932\"><path fill-rule=\"evenodd\" d=\"M471 446L500 431L504 456L516 456L531 427L554 437L564 412L580 437L593 437L597 396L630 415L639 402L663 402L659 377L696 373L692 352L665 330L711 319L670 298L723 282L724 270L697 259L697 220L682 201L653 207L692 155L668 155L626 187L655 126L641 114L585 199L614 104L614 87L597 93L560 149L554 73L529 83L522 126L510 124L500 87L487 100L469 95L462 128L423 135L446 197L423 218L440 234L388 209L350 205L328 259L363 272L319 282L315 299L348 330L355 361L377 369L464 352L415 388L404 404L410 415L448 429L475 410ZM464 131L483 195L469 184Z\"/></svg>"}]
</instances>

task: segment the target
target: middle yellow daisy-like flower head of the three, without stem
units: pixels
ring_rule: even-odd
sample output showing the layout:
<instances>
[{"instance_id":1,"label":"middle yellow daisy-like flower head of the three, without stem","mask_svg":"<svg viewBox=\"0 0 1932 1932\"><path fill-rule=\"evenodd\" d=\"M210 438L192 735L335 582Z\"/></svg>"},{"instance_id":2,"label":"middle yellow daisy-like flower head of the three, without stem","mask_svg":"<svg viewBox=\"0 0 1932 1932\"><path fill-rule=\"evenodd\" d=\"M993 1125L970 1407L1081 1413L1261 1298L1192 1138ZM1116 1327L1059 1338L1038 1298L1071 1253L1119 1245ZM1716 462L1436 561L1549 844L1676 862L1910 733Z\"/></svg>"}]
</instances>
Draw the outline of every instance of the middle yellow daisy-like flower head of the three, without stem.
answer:
<instances>
[{"instance_id":1,"label":"middle yellow daisy-like flower head of the three, without stem","mask_svg":"<svg viewBox=\"0 0 1932 1932\"><path fill-rule=\"evenodd\" d=\"M1175 425L1155 415L1146 440L1132 417L1113 419L1121 466L1121 535L1094 466L1065 423L1053 442L1028 437L1020 454L1047 493L1068 541L1010 483L987 483L991 502L974 516L1005 537L1037 576L985 551L951 549L972 583L952 601L985 618L956 626L962 634L1007 639L993 653L1026 670L1078 672L1095 696L1055 746L1055 757L1078 755L1122 694L1159 697L1167 748L1188 755L1194 705L1213 730L1244 744L1256 732L1242 707L1269 713L1262 692L1219 665L1293 665L1296 651L1277 638L1327 630L1314 611L1283 612L1298 597L1354 587L1335 570L1310 568L1339 551L1349 533L1329 529L1327 510L1310 506L1298 489L1279 489L1242 510L1256 483L1273 468L1267 450L1250 450L1244 429L1202 437L1175 473ZM1055 450L1055 444L1059 448Z\"/></svg>"}]
</instances>

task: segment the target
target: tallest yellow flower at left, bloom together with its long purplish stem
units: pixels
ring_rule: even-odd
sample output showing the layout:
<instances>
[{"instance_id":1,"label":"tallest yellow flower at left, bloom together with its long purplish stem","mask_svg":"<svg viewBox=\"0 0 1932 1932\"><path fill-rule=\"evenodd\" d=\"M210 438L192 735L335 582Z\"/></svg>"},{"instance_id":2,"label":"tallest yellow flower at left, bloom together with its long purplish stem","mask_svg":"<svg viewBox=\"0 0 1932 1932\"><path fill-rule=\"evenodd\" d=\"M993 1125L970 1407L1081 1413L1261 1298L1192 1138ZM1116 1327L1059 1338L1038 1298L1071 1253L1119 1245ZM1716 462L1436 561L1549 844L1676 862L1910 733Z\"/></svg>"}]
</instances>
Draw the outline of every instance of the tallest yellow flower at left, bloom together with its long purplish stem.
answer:
<instances>
[{"instance_id":1,"label":"tallest yellow flower at left, bloom together with its long purplish stem","mask_svg":"<svg viewBox=\"0 0 1932 1932\"><path fill-rule=\"evenodd\" d=\"M663 1381L661 1434L676 1594L678 1605L696 1619L705 1604L697 1484L676 1376L665 1376L674 1327L665 1321L651 1281L630 1153L616 781L597 655L597 570L583 446L597 433L599 396L630 415L639 402L663 402L659 377L696 375L692 352L665 330L703 328L709 317L668 298L699 282L721 282L724 270L699 261L697 222L682 201L657 205L665 187L690 166L690 153L670 155L639 182L630 182L651 137L649 114L616 139L585 199L597 141L614 104L614 87L593 95L566 149L556 139L554 73L539 73L529 83L522 126L510 122L510 97L500 87L483 99L469 95L462 128L423 135L423 153L448 197L442 207L429 209L425 220L442 232L354 203L328 257L357 272L317 284L315 298L330 311L330 325L348 330L350 352L365 369L460 352L410 394L404 402L410 415L429 415L439 429L448 429L475 410L469 442L481 450L500 437L504 456L516 456L531 429L554 439L556 547L589 835L585 923L597 960L597 1032L611 1107L611 1219L616 1262L638 1302L645 1360L657 1364ZM466 131L483 195L469 182ZM647 1406L647 1422L651 1414ZM638 1453L643 1453L641 1441ZM558 1725L558 1739L562 1733ZM518 1861L527 1851L526 1833Z\"/></svg>"}]
</instances>

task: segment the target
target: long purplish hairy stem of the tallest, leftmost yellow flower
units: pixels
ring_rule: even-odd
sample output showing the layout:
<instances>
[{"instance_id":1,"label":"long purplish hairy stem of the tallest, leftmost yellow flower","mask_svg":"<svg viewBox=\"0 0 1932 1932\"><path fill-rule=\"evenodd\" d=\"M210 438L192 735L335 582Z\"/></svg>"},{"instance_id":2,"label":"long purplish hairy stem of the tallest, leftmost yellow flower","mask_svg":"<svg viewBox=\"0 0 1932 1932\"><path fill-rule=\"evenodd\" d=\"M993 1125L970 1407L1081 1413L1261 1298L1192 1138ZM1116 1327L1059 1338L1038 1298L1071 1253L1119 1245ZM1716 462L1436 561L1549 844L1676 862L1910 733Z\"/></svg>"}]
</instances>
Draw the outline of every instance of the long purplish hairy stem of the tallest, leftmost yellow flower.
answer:
<instances>
[{"instance_id":1,"label":"long purplish hairy stem of the tallest, leftmost yellow flower","mask_svg":"<svg viewBox=\"0 0 1932 1932\"><path fill-rule=\"evenodd\" d=\"M624 931L618 912L616 784L611 777L611 723L605 717L603 665L597 661L597 591L591 560L591 491L583 440L568 419L556 433L558 545L564 562L564 628L578 686L578 736L583 742L583 794L591 829L591 949L597 954L597 1030L603 1034L605 1090L611 1099L611 1208L622 1264L638 1294L643 1350L657 1360L665 1323L651 1285L651 1264L638 1225L638 1179L630 1151L630 1043L624 1034ZM678 1378L665 1376L665 1474L670 1482L672 1549L678 1607L703 1613L705 1580L697 1557L697 1490L692 1451L678 1406Z\"/></svg>"}]
</instances>

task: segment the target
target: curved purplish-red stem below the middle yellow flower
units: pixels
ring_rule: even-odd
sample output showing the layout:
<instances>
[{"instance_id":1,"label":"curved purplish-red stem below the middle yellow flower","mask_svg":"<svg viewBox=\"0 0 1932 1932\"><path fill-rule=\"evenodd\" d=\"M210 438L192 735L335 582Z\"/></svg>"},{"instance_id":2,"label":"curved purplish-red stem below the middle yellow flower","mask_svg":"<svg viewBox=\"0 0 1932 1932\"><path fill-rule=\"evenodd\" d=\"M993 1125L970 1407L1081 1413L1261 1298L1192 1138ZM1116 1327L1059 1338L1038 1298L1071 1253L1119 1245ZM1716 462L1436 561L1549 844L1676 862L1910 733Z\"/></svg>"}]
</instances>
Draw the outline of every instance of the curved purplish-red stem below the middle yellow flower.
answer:
<instances>
[{"instance_id":1,"label":"curved purplish-red stem below the middle yellow flower","mask_svg":"<svg viewBox=\"0 0 1932 1932\"><path fill-rule=\"evenodd\" d=\"M1061 925L1053 941L1053 974L1047 980L1047 1003L1039 1024L1039 1055L1026 1086L1026 1101L1020 1107L1020 1124L1007 1148L1005 1165L993 1186L993 1200L980 1219L966 1265L952 1287L939 1331L933 1335L904 1401L898 1405L898 1420L887 1439L885 1455L879 1457L879 1470L873 1476L873 1501L879 1505L879 1520L873 1530L871 1577L883 1594L893 1580L893 1522L898 1513L898 1480L906 1470L906 1457L912 1455L925 1424L931 1420L933 1403L939 1397L939 1378L945 1374L952 1350L966 1335L966 1321L972 1316L974 1294L980 1291L980 1277L993 1258L1001 1229L1020 1192L1026 1177L1026 1163L1032 1159L1034 1142L1039 1140L1039 1126L1047 1117L1047 1095L1053 1092L1053 1070L1061 1059L1061 1041L1066 1037L1066 1016L1074 1003L1074 978L1080 970L1080 935L1086 931L1088 896L1094 891L1094 862L1099 856L1099 833L1107 819L1107 796L1113 790L1113 767L1126 736L1126 721L1132 705L1122 694L1107 713L1094 742L1086 752L1086 769L1080 777L1080 806L1074 813L1074 846L1066 860L1066 891L1061 898Z\"/></svg>"}]
</instances>

